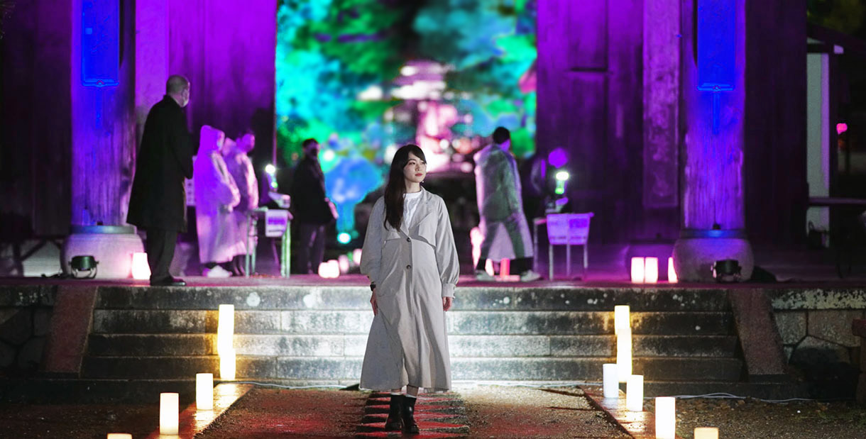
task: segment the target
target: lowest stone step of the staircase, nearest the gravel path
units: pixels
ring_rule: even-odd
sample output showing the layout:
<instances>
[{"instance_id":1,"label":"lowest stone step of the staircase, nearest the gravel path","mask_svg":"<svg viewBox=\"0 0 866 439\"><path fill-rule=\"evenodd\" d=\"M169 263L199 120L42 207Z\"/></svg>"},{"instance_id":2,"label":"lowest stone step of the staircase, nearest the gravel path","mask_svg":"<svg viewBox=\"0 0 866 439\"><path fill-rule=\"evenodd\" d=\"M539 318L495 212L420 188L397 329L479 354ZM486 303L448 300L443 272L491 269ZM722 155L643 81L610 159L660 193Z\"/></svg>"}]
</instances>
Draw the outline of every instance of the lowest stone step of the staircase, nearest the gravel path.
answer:
<instances>
[{"instance_id":1,"label":"lowest stone step of the staircase, nearest the gravel path","mask_svg":"<svg viewBox=\"0 0 866 439\"><path fill-rule=\"evenodd\" d=\"M600 380L602 365L614 358L452 358L454 379L472 380ZM362 358L237 357L239 379L358 379ZM742 362L736 358L634 359L634 373L656 381L738 381ZM83 378L167 379L195 377L196 373L219 377L216 356L191 357L87 357Z\"/></svg>"}]
</instances>

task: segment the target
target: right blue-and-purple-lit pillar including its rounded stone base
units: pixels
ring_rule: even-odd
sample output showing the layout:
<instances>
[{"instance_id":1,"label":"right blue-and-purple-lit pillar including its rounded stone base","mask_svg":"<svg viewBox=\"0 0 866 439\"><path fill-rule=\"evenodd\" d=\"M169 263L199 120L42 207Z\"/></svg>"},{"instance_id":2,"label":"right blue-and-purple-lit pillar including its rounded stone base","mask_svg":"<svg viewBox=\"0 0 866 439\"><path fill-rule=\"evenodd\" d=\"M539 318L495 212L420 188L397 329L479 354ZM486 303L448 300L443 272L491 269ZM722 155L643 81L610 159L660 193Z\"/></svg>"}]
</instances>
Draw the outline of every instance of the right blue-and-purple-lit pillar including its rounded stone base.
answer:
<instances>
[{"instance_id":1,"label":"right blue-and-purple-lit pillar including its rounded stone base","mask_svg":"<svg viewBox=\"0 0 866 439\"><path fill-rule=\"evenodd\" d=\"M701 44L724 34L724 23L693 23L695 5L724 10L733 7L733 90L699 90L704 81L699 65ZM746 0L682 2L682 231L674 249L674 264L683 281L712 281L714 261L734 259L741 278L751 277L753 254L746 239L743 190L744 115L746 110ZM724 14L721 14L724 16ZM707 26L701 29L702 26ZM698 31L695 35L694 29ZM703 34L707 31L707 34ZM727 46L730 47L730 46ZM722 60L724 61L724 60ZM709 66L709 64L708 64ZM701 72L699 72L701 70ZM704 75L705 76L705 75ZM714 101L715 100L715 101Z\"/></svg>"}]
</instances>

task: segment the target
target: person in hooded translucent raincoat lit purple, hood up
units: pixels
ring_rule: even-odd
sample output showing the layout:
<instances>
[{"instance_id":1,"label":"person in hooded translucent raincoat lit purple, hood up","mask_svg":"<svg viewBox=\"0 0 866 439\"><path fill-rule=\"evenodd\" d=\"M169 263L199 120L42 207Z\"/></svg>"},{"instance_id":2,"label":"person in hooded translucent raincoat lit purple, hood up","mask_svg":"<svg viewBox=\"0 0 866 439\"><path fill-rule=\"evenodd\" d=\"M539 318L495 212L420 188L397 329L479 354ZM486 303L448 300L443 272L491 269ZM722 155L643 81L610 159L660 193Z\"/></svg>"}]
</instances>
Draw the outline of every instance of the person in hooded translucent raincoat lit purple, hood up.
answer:
<instances>
[{"instance_id":1,"label":"person in hooded translucent raincoat lit purple, hood up","mask_svg":"<svg viewBox=\"0 0 866 439\"><path fill-rule=\"evenodd\" d=\"M235 179L226 168L220 148L225 133L202 126L192 183L196 191L196 228L198 257L208 277L228 277L233 235L231 211L241 201ZM222 265L222 266L221 266Z\"/></svg>"}]
</instances>

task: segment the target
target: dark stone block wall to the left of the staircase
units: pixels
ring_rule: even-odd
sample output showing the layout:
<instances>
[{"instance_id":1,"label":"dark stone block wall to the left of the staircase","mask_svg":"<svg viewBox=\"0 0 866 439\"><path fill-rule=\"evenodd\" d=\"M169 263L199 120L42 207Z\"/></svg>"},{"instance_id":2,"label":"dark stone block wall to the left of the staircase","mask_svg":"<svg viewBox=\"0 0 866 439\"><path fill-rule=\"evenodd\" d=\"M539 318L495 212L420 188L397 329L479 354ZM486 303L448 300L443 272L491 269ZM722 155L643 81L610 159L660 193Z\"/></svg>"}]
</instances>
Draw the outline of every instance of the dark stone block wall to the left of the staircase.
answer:
<instances>
[{"instance_id":1,"label":"dark stone block wall to the left of the staircase","mask_svg":"<svg viewBox=\"0 0 866 439\"><path fill-rule=\"evenodd\" d=\"M0 296L0 377L39 371L54 300L53 292L42 289Z\"/></svg>"}]
</instances>

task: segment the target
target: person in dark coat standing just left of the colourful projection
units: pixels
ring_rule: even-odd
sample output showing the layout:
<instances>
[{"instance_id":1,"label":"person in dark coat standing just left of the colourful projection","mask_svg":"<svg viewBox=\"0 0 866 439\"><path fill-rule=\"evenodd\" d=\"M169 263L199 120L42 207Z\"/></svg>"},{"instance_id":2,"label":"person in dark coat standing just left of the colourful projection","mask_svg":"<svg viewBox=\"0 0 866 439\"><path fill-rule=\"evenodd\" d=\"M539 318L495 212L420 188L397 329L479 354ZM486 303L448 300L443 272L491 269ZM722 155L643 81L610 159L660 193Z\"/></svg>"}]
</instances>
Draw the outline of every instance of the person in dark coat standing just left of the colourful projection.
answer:
<instances>
[{"instance_id":1,"label":"person in dark coat standing just left of the colourful projection","mask_svg":"<svg viewBox=\"0 0 866 439\"><path fill-rule=\"evenodd\" d=\"M304 158L294 170L289 196L298 224L298 266L301 273L319 269L325 255L325 229L334 219L325 196L325 174L319 164L319 142L304 140Z\"/></svg>"}]
</instances>

